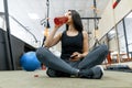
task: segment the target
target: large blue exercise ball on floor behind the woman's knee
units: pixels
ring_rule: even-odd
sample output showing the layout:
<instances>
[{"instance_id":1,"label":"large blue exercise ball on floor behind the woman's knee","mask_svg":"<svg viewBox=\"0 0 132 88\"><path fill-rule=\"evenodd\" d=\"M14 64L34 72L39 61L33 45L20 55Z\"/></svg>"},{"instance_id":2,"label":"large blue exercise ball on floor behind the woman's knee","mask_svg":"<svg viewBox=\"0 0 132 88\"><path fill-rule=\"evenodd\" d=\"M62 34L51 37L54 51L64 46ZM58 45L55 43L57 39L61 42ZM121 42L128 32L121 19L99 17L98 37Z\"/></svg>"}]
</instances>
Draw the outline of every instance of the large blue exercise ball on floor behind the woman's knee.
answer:
<instances>
[{"instance_id":1,"label":"large blue exercise ball on floor behind the woman's knee","mask_svg":"<svg viewBox=\"0 0 132 88\"><path fill-rule=\"evenodd\" d=\"M24 70L33 72L41 67L35 52L28 52L21 56L20 64Z\"/></svg>"}]
</instances>

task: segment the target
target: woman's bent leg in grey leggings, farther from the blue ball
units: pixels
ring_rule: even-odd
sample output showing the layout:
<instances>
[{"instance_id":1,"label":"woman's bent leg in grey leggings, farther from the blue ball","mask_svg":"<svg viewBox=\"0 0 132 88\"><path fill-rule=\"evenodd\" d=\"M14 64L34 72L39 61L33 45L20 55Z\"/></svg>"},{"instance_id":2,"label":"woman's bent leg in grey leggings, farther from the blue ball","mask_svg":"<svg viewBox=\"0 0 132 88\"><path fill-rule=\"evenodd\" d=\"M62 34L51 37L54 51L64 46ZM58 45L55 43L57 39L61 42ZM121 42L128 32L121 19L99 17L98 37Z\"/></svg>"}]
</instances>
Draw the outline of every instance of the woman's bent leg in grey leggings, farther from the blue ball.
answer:
<instances>
[{"instance_id":1,"label":"woman's bent leg in grey leggings, farther from the blue ball","mask_svg":"<svg viewBox=\"0 0 132 88\"><path fill-rule=\"evenodd\" d=\"M90 69L96 65L100 65L108 55L108 47L106 45L100 45L95 47L89 54L79 63L78 68Z\"/></svg>"}]
</instances>

